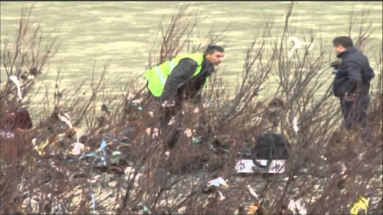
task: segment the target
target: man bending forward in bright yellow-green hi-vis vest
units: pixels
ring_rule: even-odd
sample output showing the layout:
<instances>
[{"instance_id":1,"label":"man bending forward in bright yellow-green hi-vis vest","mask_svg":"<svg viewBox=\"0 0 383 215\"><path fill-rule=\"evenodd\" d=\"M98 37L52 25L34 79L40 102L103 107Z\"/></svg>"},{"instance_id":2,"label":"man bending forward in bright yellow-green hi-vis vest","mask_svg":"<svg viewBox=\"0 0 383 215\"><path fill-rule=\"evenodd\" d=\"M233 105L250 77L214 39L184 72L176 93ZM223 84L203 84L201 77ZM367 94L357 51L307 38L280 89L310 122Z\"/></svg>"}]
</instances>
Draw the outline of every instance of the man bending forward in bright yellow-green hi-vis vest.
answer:
<instances>
[{"instance_id":1,"label":"man bending forward in bright yellow-green hi-vis vest","mask_svg":"<svg viewBox=\"0 0 383 215\"><path fill-rule=\"evenodd\" d=\"M161 131L176 118L176 129L168 142L173 147L181 134L182 102L192 100L202 111L201 92L224 58L221 46L210 45L204 53L181 55L145 72L150 94L161 104Z\"/></svg>"}]
</instances>

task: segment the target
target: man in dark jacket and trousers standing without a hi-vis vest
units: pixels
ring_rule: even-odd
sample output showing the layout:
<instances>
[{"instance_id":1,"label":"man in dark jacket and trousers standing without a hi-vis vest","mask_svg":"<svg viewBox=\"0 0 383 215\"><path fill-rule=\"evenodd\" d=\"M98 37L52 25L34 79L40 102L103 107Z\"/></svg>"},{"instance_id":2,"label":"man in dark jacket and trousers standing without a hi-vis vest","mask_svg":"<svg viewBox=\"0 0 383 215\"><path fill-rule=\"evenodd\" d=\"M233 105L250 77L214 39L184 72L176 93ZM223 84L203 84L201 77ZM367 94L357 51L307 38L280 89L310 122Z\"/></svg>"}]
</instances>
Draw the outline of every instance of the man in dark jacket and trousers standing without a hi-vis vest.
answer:
<instances>
[{"instance_id":1,"label":"man in dark jacket and trousers standing without a hi-vis vest","mask_svg":"<svg viewBox=\"0 0 383 215\"><path fill-rule=\"evenodd\" d=\"M355 126L366 128L367 110L370 103L370 82L375 74L368 58L357 50L350 37L333 39L339 65L333 80L334 96L340 98L346 129Z\"/></svg>"}]
</instances>

